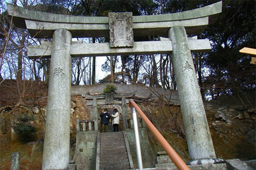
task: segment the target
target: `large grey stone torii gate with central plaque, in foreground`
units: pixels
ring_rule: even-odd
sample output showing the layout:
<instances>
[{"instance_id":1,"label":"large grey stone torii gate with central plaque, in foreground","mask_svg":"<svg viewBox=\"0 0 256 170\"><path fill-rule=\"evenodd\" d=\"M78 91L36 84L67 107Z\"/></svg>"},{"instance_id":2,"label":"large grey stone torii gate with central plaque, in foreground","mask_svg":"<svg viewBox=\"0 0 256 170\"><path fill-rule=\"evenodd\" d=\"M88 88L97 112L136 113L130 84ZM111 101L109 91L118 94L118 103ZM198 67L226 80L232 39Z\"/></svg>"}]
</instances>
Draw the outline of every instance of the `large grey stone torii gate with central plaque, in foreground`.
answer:
<instances>
[{"instance_id":1,"label":"large grey stone torii gate with central plaque, in foreground","mask_svg":"<svg viewBox=\"0 0 256 170\"><path fill-rule=\"evenodd\" d=\"M208 51L209 40L187 38L199 34L221 13L222 2L181 13L132 16L109 13L109 17L68 16L26 10L7 4L17 27L35 38L52 42L30 46L31 58L51 57L43 170L69 169L71 56L159 54L172 52L187 144L192 161L215 160L203 100L191 51ZM133 36L162 35L167 41L133 42ZM110 43L74 43L76 37L110 37Z\"/></svg>"}]
</instances>

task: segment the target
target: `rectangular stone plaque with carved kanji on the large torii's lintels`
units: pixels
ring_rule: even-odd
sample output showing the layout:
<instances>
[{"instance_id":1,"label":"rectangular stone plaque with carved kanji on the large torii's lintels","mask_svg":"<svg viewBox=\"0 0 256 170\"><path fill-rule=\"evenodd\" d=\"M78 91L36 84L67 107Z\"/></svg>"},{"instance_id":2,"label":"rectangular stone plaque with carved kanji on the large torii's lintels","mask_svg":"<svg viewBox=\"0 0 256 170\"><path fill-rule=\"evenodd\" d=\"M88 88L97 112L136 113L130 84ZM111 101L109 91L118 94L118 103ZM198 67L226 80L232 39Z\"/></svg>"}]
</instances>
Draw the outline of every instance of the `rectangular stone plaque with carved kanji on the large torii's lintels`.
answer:
<instances>
[{"instance_id":1,"label":"rectangular stone plaque with carved kanji on the large torii's lintels","mask_svg":"<svg viewBox=\"0 0 256 170\"><path fill-rule=\"evenodd\" d=\"M110 47L133 47L132 12L108 13Z\"/></svg>"}]
</instances>

